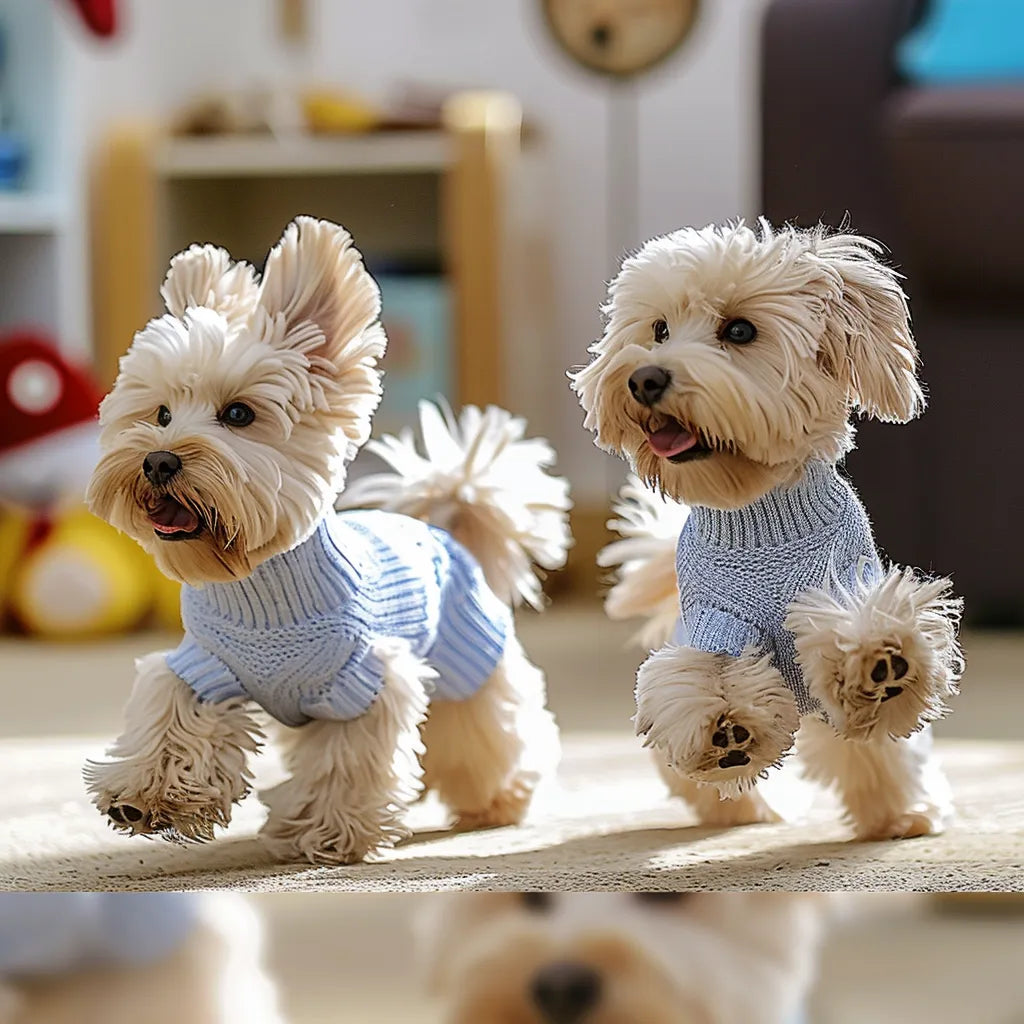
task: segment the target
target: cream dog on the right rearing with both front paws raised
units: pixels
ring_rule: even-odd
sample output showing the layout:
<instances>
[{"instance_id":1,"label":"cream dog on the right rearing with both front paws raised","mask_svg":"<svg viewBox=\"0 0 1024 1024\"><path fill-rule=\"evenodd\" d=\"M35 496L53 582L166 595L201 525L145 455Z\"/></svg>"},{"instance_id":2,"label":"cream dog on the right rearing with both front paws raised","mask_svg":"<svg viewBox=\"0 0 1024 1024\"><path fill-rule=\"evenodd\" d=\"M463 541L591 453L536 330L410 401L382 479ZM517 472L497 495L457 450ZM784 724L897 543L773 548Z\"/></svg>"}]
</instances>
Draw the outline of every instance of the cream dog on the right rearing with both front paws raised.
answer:
<instances>
[{"instance_id":1,"label":"cream dog on the right rearing with both front paws raised","mask_svg":"<svg viewBox=\"0 0 1024 1024\"><path fill-rule=\"evenodd\" d=\"M949 813L926 726L957 689L961 602L948 580L882 565L835 467L851 411L904 422L924 408L906 298L879 252L765 221L655 239L623 264L594 358L571 375L598 445L691 506L680 622L640 669L635 724L708 823L775 820L753 787L801 722L811 773L859 838L937 833ZM669 555L664 538L636 547L656 516L632 504L634 536L605 556L631 562L611 610L646 602L656 632Z\"/></svg>"}]
</instances>

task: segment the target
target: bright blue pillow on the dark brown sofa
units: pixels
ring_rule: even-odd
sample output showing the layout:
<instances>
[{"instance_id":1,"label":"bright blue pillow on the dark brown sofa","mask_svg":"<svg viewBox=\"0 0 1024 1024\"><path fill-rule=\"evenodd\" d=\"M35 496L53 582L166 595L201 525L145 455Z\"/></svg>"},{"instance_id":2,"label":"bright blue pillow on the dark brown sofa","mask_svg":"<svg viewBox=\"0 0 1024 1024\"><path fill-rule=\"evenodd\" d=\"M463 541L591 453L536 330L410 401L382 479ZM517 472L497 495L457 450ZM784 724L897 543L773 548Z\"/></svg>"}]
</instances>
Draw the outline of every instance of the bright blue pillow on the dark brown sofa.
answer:
<instances>
[{"instance_id":1,"label":"bright blue pillow on the dark brown sofa","mask_svg":"<svg viewBox=\"0 0 1024 1024\"><path fill-rule=\"evenodd\" d=\"M932 0L897 65L922 83L1024 79L1024 0Z\"/></svg>"}]
</instances>

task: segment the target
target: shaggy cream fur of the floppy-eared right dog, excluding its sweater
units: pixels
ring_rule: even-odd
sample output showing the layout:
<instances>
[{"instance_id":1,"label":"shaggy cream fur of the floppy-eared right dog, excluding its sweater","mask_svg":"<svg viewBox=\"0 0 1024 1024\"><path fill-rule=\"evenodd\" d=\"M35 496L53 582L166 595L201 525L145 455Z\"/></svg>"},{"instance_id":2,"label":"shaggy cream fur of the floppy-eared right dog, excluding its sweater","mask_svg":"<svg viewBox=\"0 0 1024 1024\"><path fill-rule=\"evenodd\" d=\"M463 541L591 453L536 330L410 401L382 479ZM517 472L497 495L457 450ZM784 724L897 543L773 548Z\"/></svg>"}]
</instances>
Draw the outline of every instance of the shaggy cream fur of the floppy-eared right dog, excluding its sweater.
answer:
<instances>
[{"instance_id":1,"label":"shaggy cream fur of the floppy-eared right dog, excluding its sweater","mask_svg":"<svg viewBox=\"0 0 1024 1024\"><path fill-rule=\"evenodd\" d=\"M851 412L915 416L925 400L906 297L881 253L856 234L764 220L648 242L623 263L592 359L570 375L597 444L664 500L735 510L801 479L810 462L845 455ZM664 642L675 552L658 499L637 485L616 509L624 540L601 557L621 566L607 608L645 616L643 638ZM810 589L780 611L809 692L840 734L839 746L812 741L807 755L824 759L812 766L819 778L853 794L858 836L940 828L942 814L921 811L942 804L922 796L935 792L927 779L937 769L921 743L891 737L926 728L956 692L961 602L949 581L894 567L853 592ZM730 657L668 643L640 669L635 723L664 764L735 797L792 748L798 720L758 648Z\"/></svg>"}]
</instances>

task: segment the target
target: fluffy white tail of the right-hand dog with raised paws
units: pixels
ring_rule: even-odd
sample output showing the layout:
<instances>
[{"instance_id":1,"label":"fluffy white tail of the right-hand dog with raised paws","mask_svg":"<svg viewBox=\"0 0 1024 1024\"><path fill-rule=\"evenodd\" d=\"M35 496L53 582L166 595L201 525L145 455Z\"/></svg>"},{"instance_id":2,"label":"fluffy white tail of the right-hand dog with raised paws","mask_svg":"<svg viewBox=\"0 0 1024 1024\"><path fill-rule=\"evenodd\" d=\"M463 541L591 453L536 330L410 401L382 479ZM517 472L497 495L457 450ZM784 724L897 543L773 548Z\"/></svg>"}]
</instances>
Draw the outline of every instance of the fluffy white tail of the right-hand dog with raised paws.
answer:
<instances>
[{"instance_id":1,"label":"fluffy white tail of the right-hand dog with raised paws","mask_svg":"<svg viewBox=\"0 0 1024 1024\"><path fill-rule=\"evenodd\" d=\"M669 640L679 618L676 542L689 509L631 473L612 511L617 518L608 520L608 528L621 540L597 556L598 565L614 569L604 610L609 618L645 618L634 640L653 650Z\"/></svg>"}]
</instances>

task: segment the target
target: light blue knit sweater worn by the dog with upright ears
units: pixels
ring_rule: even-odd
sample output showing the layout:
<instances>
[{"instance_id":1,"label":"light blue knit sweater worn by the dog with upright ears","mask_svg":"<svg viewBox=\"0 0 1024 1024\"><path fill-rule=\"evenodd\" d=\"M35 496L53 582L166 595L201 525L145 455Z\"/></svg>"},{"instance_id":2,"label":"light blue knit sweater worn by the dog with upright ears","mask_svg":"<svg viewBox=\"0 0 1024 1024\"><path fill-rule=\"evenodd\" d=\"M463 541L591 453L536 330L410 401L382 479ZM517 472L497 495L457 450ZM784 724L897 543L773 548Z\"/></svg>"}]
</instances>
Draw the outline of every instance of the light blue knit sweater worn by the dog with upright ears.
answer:
<instances>
[{"instance_id":1,"label":"light blue knit sweater worn by the dog with upright ears","mask_svg":"<svg viewBox=\"0 0 1024 1024\"><path fill-rule=\"evenodd\" d=\"M184 587L185 637L167 656L204 700L249 697L286 725L362 715L384 685L375 641L408 640L434 698L495 671L510 612L451 536L389 512L331 513L245 580Z\"/></svg>"}]
</instances>

